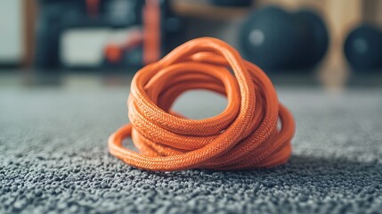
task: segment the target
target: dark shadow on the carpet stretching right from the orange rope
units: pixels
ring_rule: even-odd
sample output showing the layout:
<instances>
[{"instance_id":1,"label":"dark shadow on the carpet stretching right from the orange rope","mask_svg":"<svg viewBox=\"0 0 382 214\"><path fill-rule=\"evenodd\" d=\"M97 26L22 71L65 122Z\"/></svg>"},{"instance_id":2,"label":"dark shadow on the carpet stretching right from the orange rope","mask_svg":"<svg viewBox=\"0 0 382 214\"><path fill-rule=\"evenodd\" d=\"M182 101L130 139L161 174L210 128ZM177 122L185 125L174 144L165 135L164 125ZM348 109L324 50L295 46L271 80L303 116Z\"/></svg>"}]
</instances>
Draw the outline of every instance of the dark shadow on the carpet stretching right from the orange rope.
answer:
<instances>
[{"instance_id":1,"label":"dark shadow on the carpet stretching right from the orange rope","mask_svg":"<svg viewBox=\"0 0 382 214\"><path fill-rule=\"evenodd\" d=\"M324 158L293 155L289 162L272 169L215 171L209 169L178 172L150 172L158 177L172 177L187 182L223 185L293 186L328 191L341 187L353 193L382 191L380 161L351 161L346 158Z\"/></svg>"}]
</instances>

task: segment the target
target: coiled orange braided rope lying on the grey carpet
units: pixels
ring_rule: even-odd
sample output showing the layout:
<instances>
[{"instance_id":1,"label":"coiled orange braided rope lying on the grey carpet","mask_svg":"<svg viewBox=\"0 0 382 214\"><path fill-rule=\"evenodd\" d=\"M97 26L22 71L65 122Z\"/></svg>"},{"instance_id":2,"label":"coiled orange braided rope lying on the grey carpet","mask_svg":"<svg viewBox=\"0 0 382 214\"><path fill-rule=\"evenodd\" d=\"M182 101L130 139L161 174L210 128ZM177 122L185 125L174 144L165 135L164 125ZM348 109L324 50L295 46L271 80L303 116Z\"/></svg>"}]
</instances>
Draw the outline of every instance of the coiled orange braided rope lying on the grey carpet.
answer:
<instances>
[{"instance_id":1,"label":"coiled orange braided rope lying on the grey carpet","mask_svg":"<svg viewBox=\"0 0 382 214\"><path fill-rule=\"evenodd\" d=\"M170 111L179 95L196 88L226 95L225 110L207 119ZM109 150L140 169L267 168L291 153L295 121L272 82L216 38L193 39L139 70L127 105L131 124L110 136ZM128 136L141 153L123 146Z\"/></svg>"}]
</instances>

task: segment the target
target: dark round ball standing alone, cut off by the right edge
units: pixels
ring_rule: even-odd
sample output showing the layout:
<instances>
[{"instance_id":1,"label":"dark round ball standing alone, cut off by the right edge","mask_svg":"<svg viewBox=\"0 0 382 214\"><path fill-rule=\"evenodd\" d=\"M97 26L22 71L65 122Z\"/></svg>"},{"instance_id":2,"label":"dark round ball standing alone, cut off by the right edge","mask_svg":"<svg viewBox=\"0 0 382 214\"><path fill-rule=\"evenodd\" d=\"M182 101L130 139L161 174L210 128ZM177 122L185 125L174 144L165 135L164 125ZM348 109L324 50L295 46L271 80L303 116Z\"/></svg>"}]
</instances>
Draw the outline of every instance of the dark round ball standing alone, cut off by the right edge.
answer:
<instances>
[{"instance_id":1,"label":"dark round ball standing alone, cut off by the right edge","mask_svg":"<svg viewBox=\"0 0 382 214\"><path fill-rule=\"evenodd\" d=\"M354 70L382 69L382 30L362 24L346 37L344 51Z\"/></svg>"}]
</instances>

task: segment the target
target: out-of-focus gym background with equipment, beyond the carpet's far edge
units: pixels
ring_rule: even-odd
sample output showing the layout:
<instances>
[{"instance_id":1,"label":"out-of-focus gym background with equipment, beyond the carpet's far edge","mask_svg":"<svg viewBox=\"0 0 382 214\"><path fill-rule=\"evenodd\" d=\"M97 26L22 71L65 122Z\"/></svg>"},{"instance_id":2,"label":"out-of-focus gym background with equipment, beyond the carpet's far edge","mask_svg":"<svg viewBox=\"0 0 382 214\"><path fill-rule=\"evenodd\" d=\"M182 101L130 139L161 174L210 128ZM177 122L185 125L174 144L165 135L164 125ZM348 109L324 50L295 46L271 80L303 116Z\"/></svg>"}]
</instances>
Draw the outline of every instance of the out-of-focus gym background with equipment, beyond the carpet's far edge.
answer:
<instances>
[{"instance_id":1,"label":"out-of-focus gym background with equipment, beyond the carpet's far edge","mask_svg":"<svg viewBox=\"0 0 382 214\"><path fill-rule=\"evenodd\" d=\"M0 0L0 84L127 84L145 64L207 36L276 85L379 86L381 11L380 0Z\"/></svg>"}]
</instances>

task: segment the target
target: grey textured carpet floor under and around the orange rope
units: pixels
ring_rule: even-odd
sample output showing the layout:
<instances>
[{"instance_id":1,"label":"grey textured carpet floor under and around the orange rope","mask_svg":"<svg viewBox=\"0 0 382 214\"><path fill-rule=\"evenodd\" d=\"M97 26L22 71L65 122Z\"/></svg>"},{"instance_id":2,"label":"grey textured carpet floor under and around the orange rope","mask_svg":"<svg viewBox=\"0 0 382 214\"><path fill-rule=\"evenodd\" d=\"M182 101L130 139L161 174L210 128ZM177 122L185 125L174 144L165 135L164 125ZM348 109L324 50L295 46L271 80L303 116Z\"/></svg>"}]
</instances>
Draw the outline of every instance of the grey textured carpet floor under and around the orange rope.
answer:
<instances>
[{"instance_id":1,"label":"grey textured carpet floor under and around the orange rope","mask_svg":"<svg viewBox=\"0 0 382 214\"><path fill-rule=\"evenodd\" d=\"M150 172L107 152L128 86L0 90L0 213L381 213L382 90L278 88L297 119L289 163L252 171ZM191 93L193 118L224 108Z\"/></svg>"}]
</instances>

